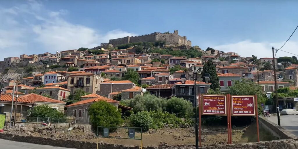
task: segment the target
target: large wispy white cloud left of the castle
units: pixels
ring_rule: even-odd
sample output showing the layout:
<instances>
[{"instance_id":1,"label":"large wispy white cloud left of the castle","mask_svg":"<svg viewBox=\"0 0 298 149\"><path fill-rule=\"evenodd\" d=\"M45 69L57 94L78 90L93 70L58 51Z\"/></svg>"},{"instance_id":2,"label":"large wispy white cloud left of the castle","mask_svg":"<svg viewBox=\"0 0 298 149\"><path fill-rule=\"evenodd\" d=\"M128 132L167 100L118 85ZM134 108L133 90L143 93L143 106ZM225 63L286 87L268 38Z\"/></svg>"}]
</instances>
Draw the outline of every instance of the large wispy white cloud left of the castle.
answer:
<instances>
[{"instance_id":1,"label":"large wispy white cloud left of the castle","mask_svg":"<svg viewBox=\"0 0 298 149\"><path fill-rule=\"evenodd\" d=\"M47 10L34 0L8 9L0 7L0 18L6 20L0 24L0 61L20 54L93 48L109 39L136 35L119 29L101 33L82 24L72 24L63 19L69 13Z\"/></svg>"}]
</instances>

